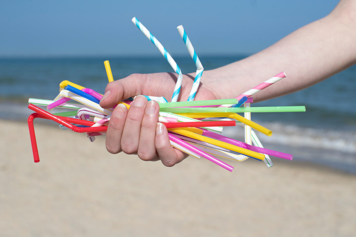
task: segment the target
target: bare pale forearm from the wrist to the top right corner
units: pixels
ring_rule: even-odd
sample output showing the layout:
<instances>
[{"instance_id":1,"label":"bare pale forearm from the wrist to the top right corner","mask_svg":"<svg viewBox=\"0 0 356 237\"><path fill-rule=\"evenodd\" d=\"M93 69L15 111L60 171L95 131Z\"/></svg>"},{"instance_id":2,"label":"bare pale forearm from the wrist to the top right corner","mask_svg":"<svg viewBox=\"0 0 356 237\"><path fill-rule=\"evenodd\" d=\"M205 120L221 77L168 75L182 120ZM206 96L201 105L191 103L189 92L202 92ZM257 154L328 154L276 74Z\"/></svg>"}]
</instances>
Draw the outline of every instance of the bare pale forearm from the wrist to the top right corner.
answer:
<instances>
[{"instance_id":1,"label":"bare pale forearm from the wrist to the top right corner","mask_svg":"<svg viewBox=\"0 0 356 237\"><path fill-rule=\"evenodd\" d=\"M356 3L344 0L328 16L241 61L206 71L217 98L236 97L284 71L287 75L253 96L262 101L314 85L356 63ZM202 80L203 81L203 80Z\"/></svg>"}]
</instances>

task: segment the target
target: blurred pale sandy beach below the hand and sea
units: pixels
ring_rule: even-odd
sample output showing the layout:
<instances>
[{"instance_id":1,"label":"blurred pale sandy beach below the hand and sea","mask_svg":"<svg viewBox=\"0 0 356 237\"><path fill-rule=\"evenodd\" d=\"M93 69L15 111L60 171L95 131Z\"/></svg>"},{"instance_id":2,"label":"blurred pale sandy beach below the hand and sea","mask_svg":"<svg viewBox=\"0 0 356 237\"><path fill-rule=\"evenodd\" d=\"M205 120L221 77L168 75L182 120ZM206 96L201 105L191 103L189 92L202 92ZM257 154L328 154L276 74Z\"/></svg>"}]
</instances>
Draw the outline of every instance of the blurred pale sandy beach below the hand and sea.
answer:
<instances>
[{"instance_id":1,"label":"blurred pale sandy beach below the hand and sea","mask_svg":"<svg viewBox=\"0 0 356 237\"><path fill-rule=\"evenodd\" d=\"M1 236L354 236L356 176L308 163L112 155L105 138L0 121Z\"/></svg>"}]
</instances>

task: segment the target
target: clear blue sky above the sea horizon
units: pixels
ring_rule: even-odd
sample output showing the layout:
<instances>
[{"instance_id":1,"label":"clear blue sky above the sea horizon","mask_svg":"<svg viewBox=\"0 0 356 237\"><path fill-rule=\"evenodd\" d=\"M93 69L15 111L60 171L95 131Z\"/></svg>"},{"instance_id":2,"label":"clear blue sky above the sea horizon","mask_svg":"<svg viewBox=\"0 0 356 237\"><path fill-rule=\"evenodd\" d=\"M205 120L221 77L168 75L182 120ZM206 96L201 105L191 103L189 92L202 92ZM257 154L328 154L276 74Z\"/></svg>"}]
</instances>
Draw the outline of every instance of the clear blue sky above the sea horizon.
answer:
<instances>
[{"instance_id":1,"label":"clear blue sky above the sea horizon","mask_svg":"<svg viewBox=\"0 0 356 237\"><path fill-rule=\"evenodd\" d=\"M252 54L326 16L338 0L0 2L0 56L159 55L136 16L172 55Z\"/></svg>"}]
</instances>

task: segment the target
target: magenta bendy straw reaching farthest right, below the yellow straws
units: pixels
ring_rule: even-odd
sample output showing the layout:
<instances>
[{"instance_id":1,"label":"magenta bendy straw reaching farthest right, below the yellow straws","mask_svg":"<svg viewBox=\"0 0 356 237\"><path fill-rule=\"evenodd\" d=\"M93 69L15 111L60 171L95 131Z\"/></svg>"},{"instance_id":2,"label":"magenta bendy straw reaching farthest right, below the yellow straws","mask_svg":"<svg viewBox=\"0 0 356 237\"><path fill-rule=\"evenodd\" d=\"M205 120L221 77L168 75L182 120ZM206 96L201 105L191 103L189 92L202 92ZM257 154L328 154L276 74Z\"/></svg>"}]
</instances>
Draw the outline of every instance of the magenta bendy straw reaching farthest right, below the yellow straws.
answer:
<instances>
[{"instance_id":1,"label":"magenta bendy straw reaching farthest right, below the yellow straws","mask_svg":"<svg viewBox=\"0 0 356 237\"><path fill-rule=\"evenodd\" d=\"M266 154L266 155L270 155L270 156L276 156L276 157L290 160L290 161L293 160L293 155L291 155L291 154L287 154L287 153L283 153L283 152L279 152L279 151L273 151L273 150L269 150L269 149L258 147L258 146L248 145L245 142L227 138L226 136L213 133L212 131L209 131L206 129L203 129L203 135L208 136L210 138L218 139L220 141L224 141L224 142L230 143L232 145L239 146L239 147L251 150L251 151L260 152L262 154Z\"/></svg>"}]
</instances>

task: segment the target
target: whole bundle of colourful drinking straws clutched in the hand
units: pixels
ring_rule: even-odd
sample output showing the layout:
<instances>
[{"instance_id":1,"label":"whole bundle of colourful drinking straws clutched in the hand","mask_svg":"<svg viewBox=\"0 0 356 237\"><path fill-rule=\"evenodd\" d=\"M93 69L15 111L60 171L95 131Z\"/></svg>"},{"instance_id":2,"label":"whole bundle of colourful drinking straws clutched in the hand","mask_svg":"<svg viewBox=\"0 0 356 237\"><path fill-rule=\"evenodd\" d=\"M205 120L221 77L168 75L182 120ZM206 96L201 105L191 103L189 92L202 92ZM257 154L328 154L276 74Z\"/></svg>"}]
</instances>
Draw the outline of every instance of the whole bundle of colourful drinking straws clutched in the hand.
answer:
<instances>
[{"instance_id":1,"label":"whole bundle of colourful drinking straws clutched in the hand","mask_svg":"<svg viewBox=\"0 0 356 237\"><path fill-rule=\"evenodd\" d=\"M221 158L244 161L248 157L252 157L256 160L264 161L267 167L273 166L269 156L292 160L293 156L290 154L264 148L255 130L267 136L271 136L272 131L251 121L251 112L305 111L304 106L250 107L250 103L253 102L251 96L286 77L284 72L277 74L234 99L194 101L204 69L184 28L178 26L178 31L197 66L197 74L188 101L177 102L182 83L180 68L162 44L137 18L132 18L132 22L157 46L179 75L173 91L172 102L168 102L163 97L145 96L148 100L158 102L159 122L167 127L168 137L173 147L194 157L206 158L230 172L234 167L221 161ZM111 82L113 81L113 76L109 61L105 61L104 65L109 82ZM40 159L33 127L34 118L51 119L59 123L61 128L71 129L77 133L86 133L89 140L94 141L95 136L105 135L110 115L115 108L101 108L99 102L103 95L90 88L79 86L70 81L62 81L59 86L60 92L53 100L34 98L28 100L28 108L35 111L27 120L35 162L39 162ZM130 109L131 102L132 98L128 98L120 103ZM242 105L244 107L241 107ZM244 116L237 113L244 113ZM224 126L244 127L245 141L237 141L221 135Z\"/></svg>"}]
</instances>

